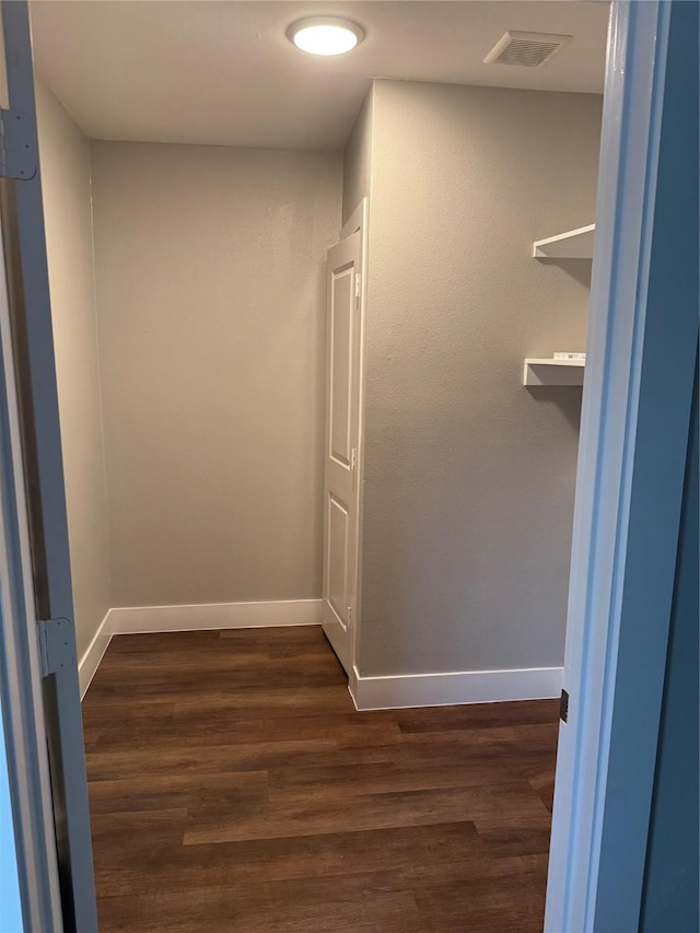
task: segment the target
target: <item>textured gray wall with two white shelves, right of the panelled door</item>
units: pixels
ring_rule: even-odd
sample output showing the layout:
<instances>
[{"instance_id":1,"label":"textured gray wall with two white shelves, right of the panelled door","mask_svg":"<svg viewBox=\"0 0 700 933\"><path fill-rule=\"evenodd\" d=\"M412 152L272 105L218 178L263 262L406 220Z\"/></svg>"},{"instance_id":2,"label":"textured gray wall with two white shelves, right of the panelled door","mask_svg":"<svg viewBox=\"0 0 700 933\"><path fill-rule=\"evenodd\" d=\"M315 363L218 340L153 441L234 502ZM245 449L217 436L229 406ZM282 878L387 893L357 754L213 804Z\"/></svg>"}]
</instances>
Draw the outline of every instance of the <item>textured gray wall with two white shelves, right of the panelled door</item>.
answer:
<instances>
[{"instance_id":1,"label":"textured gray wall with two white shelves, right of the panelled door","mask_svg":"<svg viewBox=\"0 0 700 933\"><path fill-rule=\"evenodd\" d=\"M374 89L362 675L562 663L590 263L534 240L594 220L596 96Z\"/></svg>"}]
</instances>

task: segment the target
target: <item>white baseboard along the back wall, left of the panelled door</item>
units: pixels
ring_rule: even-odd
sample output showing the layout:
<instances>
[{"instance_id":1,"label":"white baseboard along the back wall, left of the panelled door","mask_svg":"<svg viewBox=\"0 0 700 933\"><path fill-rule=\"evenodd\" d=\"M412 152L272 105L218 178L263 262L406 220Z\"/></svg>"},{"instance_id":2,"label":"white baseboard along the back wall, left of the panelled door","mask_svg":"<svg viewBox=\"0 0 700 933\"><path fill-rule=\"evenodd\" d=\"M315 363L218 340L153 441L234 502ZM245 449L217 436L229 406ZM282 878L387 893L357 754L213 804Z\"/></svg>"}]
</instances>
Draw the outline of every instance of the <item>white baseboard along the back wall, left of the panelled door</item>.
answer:
<instances>
[{"instance_id":1,"label":"white baseboard along the back wall, left of the panelled door","mask_svg":"<svg viewBox=\"0 0 700 933\"><path fill-rule=\"evenodd\" d=\"M319 626L320 599L211 603L195 606L130 606L109 613L114 634Z\"/></svg>"}]
</instances>

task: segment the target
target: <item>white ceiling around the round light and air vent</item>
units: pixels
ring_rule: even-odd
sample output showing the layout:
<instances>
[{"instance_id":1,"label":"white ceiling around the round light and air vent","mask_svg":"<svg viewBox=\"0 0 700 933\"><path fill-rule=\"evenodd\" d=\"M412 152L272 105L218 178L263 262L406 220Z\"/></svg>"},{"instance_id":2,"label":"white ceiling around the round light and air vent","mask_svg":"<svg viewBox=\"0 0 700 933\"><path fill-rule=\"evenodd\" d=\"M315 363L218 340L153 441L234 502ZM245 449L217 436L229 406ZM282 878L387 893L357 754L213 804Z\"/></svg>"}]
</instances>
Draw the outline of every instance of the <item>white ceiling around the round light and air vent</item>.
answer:
<instances>
[{"instance_id":1,"label":"white ceiling around the round light and air vent","mask_svg":"<svg viewBox=\"0 0 700 933\"><path fill-rule=\"evenodd\" d=\"M35 0L36 67L94 139L339 149L370 79L600 93L608 4L581 0ZM304 15L361 23L340 58L285 38ZM505 30L572 35L542 69L486 66Z\"/></svg>"}]
</instances>

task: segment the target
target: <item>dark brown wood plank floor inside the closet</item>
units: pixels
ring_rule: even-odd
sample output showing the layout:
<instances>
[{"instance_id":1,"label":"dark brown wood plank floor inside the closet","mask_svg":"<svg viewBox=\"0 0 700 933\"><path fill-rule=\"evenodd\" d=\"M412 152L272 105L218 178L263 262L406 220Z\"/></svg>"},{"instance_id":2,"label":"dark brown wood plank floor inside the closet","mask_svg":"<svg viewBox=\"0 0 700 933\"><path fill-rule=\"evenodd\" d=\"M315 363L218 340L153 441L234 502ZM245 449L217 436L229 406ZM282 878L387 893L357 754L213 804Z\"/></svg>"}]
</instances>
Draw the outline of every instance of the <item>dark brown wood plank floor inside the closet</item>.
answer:
<instances>
[{"instance_id":1,"label":"dark brown wood plank floor inside the closet","mask_svg":"<svg viewBox=\"0 0 700 933\"><path fill-rule=\"evenodd\" d=\"M358 713L316 627L115 638L83 702L101 931L540 931L557 715Z\"/></svg>"}]
</instances>

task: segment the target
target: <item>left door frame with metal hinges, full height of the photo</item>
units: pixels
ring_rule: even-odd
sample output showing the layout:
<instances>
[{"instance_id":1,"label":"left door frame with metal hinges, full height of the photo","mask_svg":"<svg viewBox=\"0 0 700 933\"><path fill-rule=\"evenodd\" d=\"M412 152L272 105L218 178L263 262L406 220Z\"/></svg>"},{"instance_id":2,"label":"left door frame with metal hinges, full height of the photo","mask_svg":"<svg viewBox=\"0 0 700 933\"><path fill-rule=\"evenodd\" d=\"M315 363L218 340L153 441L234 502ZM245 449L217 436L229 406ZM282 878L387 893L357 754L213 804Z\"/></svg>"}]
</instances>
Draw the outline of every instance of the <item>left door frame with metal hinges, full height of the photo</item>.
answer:
<instances>
[{"instance_id":1,"label":"left door frame with metal hinges, full height of the photo","mask_svg":"<svg viewBox=\"0 0 700 933\"><path fill-rule=\"evenodd\" d=\"M5 737L11 788L15 782L18 867L27 929L91 933L97 930L96 897L28 4L1 0L0 14L3 128L14 160L0 180L0 499L12 574L0 653L8 665L5 725L14 723ZM11 140L7 128L15 120L22 120L24 135ZM24 808L16 782L34 788ZM34 922L37 911L44 919Z\"/></svg>"}]
</instances>

